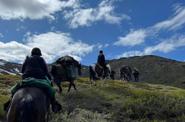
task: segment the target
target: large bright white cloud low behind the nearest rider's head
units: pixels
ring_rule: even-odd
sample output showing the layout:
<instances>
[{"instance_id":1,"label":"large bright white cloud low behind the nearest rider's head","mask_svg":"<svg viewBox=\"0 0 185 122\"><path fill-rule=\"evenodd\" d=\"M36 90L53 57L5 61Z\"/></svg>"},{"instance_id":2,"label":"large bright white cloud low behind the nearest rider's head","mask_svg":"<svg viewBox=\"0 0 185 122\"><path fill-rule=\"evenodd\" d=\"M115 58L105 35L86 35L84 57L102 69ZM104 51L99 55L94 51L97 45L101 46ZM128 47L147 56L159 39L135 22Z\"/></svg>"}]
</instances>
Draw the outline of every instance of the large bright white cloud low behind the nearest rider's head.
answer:
<instances>
[{"instance_id":1,"label":"large bright white cloud low behind the nearest rider's head","mask_svg":"<svg viewBox=\"0 0 185 122\"><path fill-rule=\"evenodd\" d=\"M33 47L39 47L43 57L51 63L64 55L74 56L77 60L93 50L93 45L73 40L68 33L48 32L29 36L24 43L0 42L0 57L11 62L22 62Z\"/></svg>"}]
</instances>

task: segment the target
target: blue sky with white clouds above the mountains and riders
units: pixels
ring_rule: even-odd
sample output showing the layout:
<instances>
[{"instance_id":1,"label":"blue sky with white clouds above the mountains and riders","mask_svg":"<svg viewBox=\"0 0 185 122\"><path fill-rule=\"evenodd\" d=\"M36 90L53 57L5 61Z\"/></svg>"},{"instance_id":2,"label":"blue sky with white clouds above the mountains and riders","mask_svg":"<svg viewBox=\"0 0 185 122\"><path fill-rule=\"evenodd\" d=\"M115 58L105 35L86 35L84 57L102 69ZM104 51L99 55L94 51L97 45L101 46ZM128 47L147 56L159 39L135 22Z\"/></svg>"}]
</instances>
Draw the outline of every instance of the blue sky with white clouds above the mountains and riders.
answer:
<instances>
[{"instance_id":1,"label":"blue sky with white clouds above the mountains and riders","mask_svg":"<svg viewBox=\"0 0 185 122\"><path fill-rule=\"evenodd\" d=\"M185 61L184 0L0 0L0 59L22 63L39 47L47 63L158 55Z\"/></svg>"}]
</instances>

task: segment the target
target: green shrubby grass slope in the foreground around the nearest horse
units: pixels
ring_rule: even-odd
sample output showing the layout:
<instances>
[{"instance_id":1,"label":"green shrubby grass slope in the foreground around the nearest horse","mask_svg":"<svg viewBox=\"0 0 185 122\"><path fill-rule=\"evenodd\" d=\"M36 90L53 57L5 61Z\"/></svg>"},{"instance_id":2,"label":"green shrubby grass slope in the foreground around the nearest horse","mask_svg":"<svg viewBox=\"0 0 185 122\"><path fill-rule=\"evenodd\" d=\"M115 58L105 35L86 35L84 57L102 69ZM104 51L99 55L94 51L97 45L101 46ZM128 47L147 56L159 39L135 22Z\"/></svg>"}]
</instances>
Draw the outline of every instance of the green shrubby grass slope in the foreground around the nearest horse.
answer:
<instances>
[{"instance_id":1,"label":"green shrubby grass slope in the foreground around the nearest horse","mask_svg":"<svg viewBox=\"0 0 185 122\"><path fill-rule=\"evenodd\" d=\"M1 77L3 80L1 80ZM0 116L8 88L19 78L0 76ZM6 82L8 81L8 83ZM185 90L148 83L97 81L86 78L77 82L78 91L57 94L63 106L59 114L52 114L51 122L169 122L185 120Z\"/></svg>"}]
</instances>

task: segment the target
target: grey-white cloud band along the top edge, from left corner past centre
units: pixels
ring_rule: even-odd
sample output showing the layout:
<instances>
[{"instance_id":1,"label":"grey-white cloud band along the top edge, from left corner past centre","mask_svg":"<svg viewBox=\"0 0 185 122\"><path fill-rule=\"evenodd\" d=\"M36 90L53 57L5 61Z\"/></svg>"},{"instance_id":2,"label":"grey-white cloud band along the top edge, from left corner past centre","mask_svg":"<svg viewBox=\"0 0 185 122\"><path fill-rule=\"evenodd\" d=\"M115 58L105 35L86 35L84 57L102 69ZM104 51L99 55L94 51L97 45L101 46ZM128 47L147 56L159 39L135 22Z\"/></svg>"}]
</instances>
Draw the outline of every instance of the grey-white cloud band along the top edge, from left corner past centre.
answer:
<instances>
[{"instance_id":1,"label":"grey-white cloud band along the top edge, from left corner past centre","mask_svg":"<svg viewBox=\"0 0 185 122\"><path fill-rule=\"evenodd\" d=\"M61 12L71 28L90 26L93 22L105 21L119 24L127 15L116 15L113 0L103 0L96 8L85 8L80 0L0 0L0 18L12 19L55 19Z\"/></svg>"}]
</instances>

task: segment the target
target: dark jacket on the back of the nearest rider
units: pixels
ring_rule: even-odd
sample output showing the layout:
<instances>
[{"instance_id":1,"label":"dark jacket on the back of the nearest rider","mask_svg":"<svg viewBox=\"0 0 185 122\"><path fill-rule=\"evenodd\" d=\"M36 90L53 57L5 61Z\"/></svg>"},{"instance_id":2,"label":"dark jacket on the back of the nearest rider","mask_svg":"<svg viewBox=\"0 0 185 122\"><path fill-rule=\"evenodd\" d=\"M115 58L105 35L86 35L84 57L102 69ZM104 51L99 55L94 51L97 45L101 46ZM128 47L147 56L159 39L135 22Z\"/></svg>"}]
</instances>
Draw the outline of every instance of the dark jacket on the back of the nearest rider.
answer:
<instances>
[{"instance_id":1,"label":"dark jacket on the back of the nearest rider","mask_svg":"<svg viewBox=\"0 0 185 122\"><path fill-rule=\"evenodd\" d=\"M22 65L22 78L33 77L37 79L45 79L46 76L51 80L48 68L44 59L40 56L26 57Z\"/></svg>"}]
</instances>

